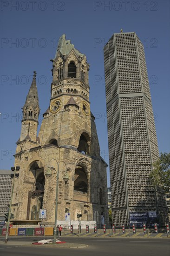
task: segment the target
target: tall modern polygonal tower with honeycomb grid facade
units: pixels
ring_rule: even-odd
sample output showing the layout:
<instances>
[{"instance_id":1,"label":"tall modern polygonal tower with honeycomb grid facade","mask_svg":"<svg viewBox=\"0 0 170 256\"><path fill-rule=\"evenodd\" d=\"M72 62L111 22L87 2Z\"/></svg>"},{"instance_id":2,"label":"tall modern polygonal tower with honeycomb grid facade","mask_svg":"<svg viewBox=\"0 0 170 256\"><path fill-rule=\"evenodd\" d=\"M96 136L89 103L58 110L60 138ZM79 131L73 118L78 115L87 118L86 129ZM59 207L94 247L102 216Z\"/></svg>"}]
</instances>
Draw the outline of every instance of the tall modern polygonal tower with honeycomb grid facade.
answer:
<instances>
[{"instance_id":1,"label":"tall modern polygonal tower with honeycomb grid facade","mask_svg":"<svg viewBox=\"0 0 170 256\"><path fill-rule=\"evenodd\" d=\"M159 151L144 46L135 32L116 33L104 58L113 223L164 225L164 194L149 178Z\"/></svg>"}]
</instances>

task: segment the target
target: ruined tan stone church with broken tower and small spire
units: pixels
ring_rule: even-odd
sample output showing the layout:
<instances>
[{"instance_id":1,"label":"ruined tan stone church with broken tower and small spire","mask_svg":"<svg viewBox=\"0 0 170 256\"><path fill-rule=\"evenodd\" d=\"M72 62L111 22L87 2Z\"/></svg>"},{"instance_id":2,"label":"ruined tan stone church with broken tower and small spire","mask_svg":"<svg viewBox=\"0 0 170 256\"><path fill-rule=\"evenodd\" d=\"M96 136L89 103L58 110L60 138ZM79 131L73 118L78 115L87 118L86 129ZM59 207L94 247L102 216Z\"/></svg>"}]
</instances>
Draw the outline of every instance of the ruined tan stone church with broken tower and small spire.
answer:
<instances>
[{"instance_id":1,"label":"ruined tan stone church with broken tower and small spire","mask_svg":"<svg viewBox=\"0 0 170 256\"><path fill-rule=\"evenodd\" d=\"M85 54L61 36L52 61L50 106L37 136L39 101L36 73L23 107L15 166L14 220L54 223L57 173L59 173L58 220L95 220L108 223L107 164L100 157L95 118L89 102L89 64ZM65 182L64 177L68 180ZM12 211L13 212L13 211Z\"/></svg>"}]
</instances>

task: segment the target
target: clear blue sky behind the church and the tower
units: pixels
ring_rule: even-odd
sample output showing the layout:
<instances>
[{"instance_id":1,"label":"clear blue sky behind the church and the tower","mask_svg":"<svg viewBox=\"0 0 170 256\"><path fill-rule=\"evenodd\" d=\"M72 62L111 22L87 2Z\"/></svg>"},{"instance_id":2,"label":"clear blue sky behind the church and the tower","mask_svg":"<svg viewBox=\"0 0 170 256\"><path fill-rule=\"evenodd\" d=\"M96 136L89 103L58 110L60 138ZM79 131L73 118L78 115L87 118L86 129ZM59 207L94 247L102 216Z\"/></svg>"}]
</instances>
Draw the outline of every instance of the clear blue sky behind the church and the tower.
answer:
<instances>
[{"instance_id":1,"label":"clear blue sky behind the church and the tower","mask_svg":"<svg viewBox=\"0 0 170 256\"><path fill-rule=\"evenodd\" d=\"M62 34L90 63L91 110L96 116L101 156L109 163L103 47L121 28L137 33L144 44L159 151L170 151L170 1L4 0L0 19L1 169L14 164L21 108L34 70L41 114L49 106L50 59Z\"/></svg>"}]
</instances>

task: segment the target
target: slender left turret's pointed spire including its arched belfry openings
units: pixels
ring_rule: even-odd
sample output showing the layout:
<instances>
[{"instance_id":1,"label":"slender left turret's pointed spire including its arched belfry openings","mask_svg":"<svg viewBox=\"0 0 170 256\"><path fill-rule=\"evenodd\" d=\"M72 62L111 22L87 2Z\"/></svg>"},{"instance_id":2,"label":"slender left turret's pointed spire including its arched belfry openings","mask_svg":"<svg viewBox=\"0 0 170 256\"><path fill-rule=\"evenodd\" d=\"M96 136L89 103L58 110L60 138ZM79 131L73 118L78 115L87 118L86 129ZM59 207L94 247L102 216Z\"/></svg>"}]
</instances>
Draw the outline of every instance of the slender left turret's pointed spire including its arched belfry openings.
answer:
<instances>
[{"instance_id":1,"label":"slender left turret's pointed spire including its arched belfry openings","mask_svg":"<svg viewBox=\"0 0 170 256\"><path fill-rule=\"evenodd\" d=\"M38 91L37 91L37 85L36 85L36 71L33 72L33 81L31 84L31 87L29 89L29 92L26 96L26 102L24 104L23 109L23 119L32 119L35 121L38 121L39 116L39 97L38 97Z\"/></svg>"}]
</instances>

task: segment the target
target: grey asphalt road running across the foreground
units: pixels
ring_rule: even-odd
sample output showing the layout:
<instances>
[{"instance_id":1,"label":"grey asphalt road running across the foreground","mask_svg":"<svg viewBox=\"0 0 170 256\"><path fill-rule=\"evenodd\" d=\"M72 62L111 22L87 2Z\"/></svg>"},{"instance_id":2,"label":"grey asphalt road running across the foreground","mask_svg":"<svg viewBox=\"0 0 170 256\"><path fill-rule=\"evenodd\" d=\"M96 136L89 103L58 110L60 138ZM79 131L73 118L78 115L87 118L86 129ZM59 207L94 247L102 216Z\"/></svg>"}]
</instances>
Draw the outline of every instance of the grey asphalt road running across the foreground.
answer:
<instances>
[{"instance_id":1,"label":"grey asphalt road running across the foreground","mask_svg":"<svg viewBox=\"0 0 170 256\"><path fill-rule=\"evenodd\" d=\"M31 245L40 239L42 236L9 237L9 241L30 241L30 246L20 246L2 243L4 237L1 236L0 256L170 256L169 239L61 237L61 241L88 244L89 247L73 249Z\"/></svg>"}]
</instances>

